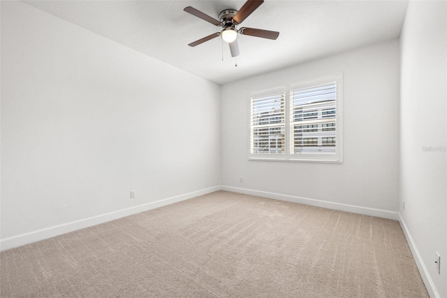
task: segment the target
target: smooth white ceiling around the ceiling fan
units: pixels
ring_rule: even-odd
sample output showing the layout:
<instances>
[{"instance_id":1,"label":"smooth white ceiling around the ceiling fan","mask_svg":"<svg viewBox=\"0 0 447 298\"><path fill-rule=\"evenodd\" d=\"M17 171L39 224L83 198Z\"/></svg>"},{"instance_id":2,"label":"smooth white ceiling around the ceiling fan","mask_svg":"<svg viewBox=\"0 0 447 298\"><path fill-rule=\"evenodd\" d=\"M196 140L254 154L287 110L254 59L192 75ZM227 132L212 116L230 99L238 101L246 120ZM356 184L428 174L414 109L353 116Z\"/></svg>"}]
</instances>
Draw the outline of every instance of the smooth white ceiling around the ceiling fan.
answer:
<instances>
[{"instance_id":1,"label":"smooth white ceiling around the ceiling fan","mask_svg":"<svg viewBox=\"0 0 447 298\"><path fill-rule=\"evenodd\" d=\"M239 36L241 55L235 67L221 38L188 46L219 27L183 8L193 6L218 19L221 10L239 9L244 0L24 2L220 85L397 38L408 4L407 0L265 0L239 27L279 31L279 38Z\"/></svg>"}]
</instances>

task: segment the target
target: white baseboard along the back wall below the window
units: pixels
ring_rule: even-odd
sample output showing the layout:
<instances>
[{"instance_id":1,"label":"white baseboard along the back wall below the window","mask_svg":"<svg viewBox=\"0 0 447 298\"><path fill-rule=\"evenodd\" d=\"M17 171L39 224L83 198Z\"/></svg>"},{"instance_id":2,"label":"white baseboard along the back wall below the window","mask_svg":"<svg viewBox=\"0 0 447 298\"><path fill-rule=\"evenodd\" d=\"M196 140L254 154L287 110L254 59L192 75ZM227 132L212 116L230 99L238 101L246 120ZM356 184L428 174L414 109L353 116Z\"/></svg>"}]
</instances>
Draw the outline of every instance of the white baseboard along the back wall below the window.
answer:
<instances>
[{"instance_id":1,"label":"white baseboard along the back wall below the window","mask_svg":"<svg viewBox=\"0 0 447 298\"><path fill-rule=\"evenodd\" d=\"M290 196L287 194L275 194L273 192L261 192L258 190L247 190L245 188L231 187L231 186L224 186L224 185L221 186L221 190L226 190L228 192L237 192L240 194L249 194L249 195L257 196L257 197L266 197L269 199L277 199L280 201L291 201L293 203L335 209L335 210L339 210L339 211L346 211L346 212L358 213L358 214L363 214L363 215L371 215L371 216L375 216L377 218L388 218L390 220L399 220L399 215L398 215L399 213L393 212L393 211L386 211L386 210L375 209L375 208L366 208L366 207L360 207L360 206L354 206L354 205L348 205L348 204L340 204L340 203L334 203L331 201L322 201L322 200L318 200L318 199L295 197L295 196Z\"/></svg>"}]
</instances>

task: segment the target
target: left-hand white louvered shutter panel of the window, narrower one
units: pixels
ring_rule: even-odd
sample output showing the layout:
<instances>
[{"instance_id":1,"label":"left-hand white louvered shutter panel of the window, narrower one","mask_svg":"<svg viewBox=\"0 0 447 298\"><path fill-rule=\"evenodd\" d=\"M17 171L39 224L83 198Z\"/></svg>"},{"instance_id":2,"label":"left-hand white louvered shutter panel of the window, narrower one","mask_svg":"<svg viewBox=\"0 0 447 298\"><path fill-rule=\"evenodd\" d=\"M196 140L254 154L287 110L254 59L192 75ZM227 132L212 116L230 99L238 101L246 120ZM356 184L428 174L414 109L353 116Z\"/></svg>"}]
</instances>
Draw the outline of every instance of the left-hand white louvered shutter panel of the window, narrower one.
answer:
<instances>
[{"instance_id":1,"label":"left-hand white louvered shutter panel of the window, narrower one","mask_svg":"<svg viewBox=\"0 0 447 298\"><path fill-rule=\"evenodd\" d=\"M285 92L251 97L250 152L285 152Z\"/></svg>"}]
</instances>

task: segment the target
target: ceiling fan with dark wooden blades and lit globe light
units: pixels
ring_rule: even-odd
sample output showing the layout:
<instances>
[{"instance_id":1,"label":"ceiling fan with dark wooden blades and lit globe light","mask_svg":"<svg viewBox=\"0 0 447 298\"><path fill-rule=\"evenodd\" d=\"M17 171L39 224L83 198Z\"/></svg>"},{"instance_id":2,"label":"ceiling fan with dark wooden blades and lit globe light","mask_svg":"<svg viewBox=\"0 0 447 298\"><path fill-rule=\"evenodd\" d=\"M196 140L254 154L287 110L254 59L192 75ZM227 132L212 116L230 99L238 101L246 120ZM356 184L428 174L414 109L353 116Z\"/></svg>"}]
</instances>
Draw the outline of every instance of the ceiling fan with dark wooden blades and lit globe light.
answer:
<instances>
[{"instance_id":1,"label":"ceiling fan with dark wooden blades and lit globe light","mask_svg":"<svg viewBox=\"0 0 447 298\"><path fill-rule=\"evenodd\" d=\"M279 32L277 31L247 27L242 27L240 29L236 28L237 25L242 23L263 2L263 0L248 0L244 3L242 8L240 8L240 10L223 10L221 13L219 13L219 20L214 19L214 17L210 17L210 15L202 13L200 10L197 10L196 8L193 8L191 6L184 8L184 11L186 11L186 13L191 13L191 15L200 17L200 19L210 22L217 27L223 27L222 31L213 33L209 36L205 36L204 38L200 38L198 41L189 43L189 46L195 47L196 45L200 45L200 43L205 43L205 41L210 41L210 39L212 38L221 36L223 41L226 41L230 45L231 57L237 57L240 55L239 46L237 45L237 34L256 36L273 40L277 39L279 36Z\"/></svg>"}]
</instances>

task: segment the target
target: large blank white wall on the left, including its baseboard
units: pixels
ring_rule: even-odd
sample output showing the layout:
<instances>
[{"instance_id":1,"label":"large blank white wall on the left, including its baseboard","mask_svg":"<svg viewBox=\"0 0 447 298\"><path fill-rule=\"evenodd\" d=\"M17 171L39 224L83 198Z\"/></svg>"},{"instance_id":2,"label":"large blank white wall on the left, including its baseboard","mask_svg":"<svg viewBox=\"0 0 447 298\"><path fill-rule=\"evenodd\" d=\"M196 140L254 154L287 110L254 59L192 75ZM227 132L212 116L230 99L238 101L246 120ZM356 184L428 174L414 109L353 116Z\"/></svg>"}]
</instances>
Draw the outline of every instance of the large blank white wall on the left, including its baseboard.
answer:
<instances>
[{"instance_id":1,"label":"large blank white wall on the left, including its baseboard","mask_svg":"<svg viewBox=\"0 0 447 298\"><path fill-rule=\"evenodd\" d=\"M219 85L16 1L1 78L2 249L219 188Z\"/></svg>"}]
</instances>

